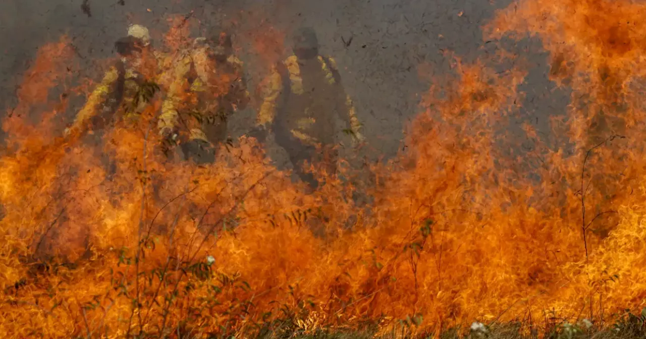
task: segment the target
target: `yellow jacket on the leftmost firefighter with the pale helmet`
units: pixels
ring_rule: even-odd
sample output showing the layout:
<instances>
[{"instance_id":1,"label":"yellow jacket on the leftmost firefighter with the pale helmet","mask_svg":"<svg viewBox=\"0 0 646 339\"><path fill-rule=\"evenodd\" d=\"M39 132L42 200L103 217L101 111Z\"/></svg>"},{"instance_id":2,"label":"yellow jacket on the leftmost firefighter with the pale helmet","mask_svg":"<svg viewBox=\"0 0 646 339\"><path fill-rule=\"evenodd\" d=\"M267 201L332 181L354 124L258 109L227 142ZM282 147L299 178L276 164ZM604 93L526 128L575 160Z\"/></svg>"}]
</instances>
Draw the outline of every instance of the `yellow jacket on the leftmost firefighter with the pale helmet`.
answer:
<instances>
[{"instance_id":1,"label":"yellow jacket on the leftmost firefighter with the pale helmet","mask_svg":"<svg viewBox=\"0 0 646 339\"><path fill-rule=\"evenodd\" d=\"M165 54L154 52L152 67L156 68L155 74L149 76L143 76L137 70L127 68L123 60L114 63L90 93L85 105L76 114L74 122L67 128L66 134L77 134L83 130L103 127L110 123L114 114L122 106L132 108L134 113L140 113L147 103L141 102L138 107L130 107L130 104L144 81L160 83L164 75L163 65L168 64L165 60L167 57Z\"/></svg>"}]
</instances>

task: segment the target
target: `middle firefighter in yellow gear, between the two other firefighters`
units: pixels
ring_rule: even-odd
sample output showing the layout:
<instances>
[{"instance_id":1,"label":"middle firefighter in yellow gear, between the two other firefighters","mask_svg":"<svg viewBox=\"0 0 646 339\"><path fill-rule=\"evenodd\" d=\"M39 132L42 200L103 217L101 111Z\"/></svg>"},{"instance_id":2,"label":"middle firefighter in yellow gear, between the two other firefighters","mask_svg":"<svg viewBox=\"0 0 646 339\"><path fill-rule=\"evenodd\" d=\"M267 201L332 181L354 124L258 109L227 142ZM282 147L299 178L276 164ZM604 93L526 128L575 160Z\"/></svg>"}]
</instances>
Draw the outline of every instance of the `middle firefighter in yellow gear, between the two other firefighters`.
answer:
<instances>
[{"instance_id":1,"label":"middle firefighter in yellow gear, between the two other firefighters","mask_svg":"<svg viewBox=\"0 0 646 339\"><path fill-rule=\"evenodd\" d=\"M195 39L180 59L162 104L159 128L169 147L180 143L186 159L212 162L227 137L227 120L249 103L243 63L233 55L231 36Z\"/></svg>"}]
</instances>

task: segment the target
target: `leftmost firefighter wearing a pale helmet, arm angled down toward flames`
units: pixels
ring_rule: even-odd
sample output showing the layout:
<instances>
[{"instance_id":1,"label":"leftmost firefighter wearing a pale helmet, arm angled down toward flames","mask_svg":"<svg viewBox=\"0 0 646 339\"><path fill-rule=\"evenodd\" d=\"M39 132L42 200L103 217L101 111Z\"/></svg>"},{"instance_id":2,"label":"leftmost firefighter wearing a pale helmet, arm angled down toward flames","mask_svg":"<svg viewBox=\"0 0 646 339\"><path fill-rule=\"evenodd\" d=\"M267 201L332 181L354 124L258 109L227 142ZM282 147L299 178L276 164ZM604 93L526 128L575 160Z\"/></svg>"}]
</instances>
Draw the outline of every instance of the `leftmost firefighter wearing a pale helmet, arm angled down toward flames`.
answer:
<instances>
[{"instance_id":1,"label":"leftmost firefighter wearing a pale helmet, arm angled down toward flames","mask_svg":"<svg viewBox=\"0 0 646 339\"><path fill-rule=\"evenodd\" d=\"M152 50L147 28L130 25L128 34L116 41L120 57L90 94L87 102L76 115L66 136L80 136L87 130L101 130L114 123L114 114L125 108L126 114L141 113L145 101L138 100L143 85L152 84L157 76L160 54Z\"/></svg>"}]
</instances>

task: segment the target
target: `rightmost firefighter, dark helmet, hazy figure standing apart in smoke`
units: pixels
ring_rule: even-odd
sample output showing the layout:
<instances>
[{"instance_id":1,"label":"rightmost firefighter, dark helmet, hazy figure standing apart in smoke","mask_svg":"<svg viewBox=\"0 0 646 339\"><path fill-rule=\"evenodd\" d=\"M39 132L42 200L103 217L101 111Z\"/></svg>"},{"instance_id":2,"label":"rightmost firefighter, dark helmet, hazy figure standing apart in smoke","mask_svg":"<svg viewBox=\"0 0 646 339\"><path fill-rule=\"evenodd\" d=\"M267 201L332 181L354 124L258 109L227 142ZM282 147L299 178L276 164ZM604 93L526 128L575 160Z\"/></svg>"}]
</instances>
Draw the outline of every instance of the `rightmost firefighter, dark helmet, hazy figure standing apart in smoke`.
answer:
<instances>
[{"instance_id":1,"label":"rightmost firefighter, dark helmet, hazy figure standing apart in smoke","mask_svg":"<svg viewBox=\"0 0 646 339\"><path fill-rule=\"evenodd\" d=\"M337 64L331 57L319 55L312 28L298 31L293 52L273 69L256 128L273 129L276 143L289 154L295 172L315 188L318 181L302 165L304 161L323 160L328 174L336 171L333 114L346 121L346 130L355 141L364 138L352 100L341 85Z\"/></svg>"}]
</instances>

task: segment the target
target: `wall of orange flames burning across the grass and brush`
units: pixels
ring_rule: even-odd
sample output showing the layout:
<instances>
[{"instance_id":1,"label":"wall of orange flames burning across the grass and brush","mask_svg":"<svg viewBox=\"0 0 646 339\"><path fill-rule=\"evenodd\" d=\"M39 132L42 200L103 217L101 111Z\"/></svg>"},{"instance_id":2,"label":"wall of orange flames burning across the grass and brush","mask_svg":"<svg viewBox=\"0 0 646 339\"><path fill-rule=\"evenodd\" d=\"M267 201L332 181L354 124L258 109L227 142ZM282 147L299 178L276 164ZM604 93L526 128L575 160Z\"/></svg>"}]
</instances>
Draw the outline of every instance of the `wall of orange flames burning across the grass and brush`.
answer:
<instances>
[{"instance_id":1,"label":"wall of orange flames burning across the grass and brush","mask_svg":"<svg viewBox=\"0 0 646 339\"><path fill-rule=\"evenodd\" d=\"M639 41L627 34L630 43L611 53L619 46L612 34L593 39L573 28L583 18L552 15L548 29L536 26L537 8L574 6L537 3L520 4L523 21L501 12L492 31L536 32L555 54L550 34L568 35L563 51L576 53L562 69L572 72L554 74L568 79L572 105L554 128L574 150L550 149L526 126L535 147L519 153L504 131L526 70L456 58L408 127L408 148L370 169L373 184L359 192L369 205L353 199L358 189L346 179L355 170L342 166L305 194L255 139L222 147L206 167L163 161L151 128L156 98L136 121L105 130L99 149L59 138L52 121L67 97L41 99L65 85L70 58L65 40L41 48L23 85L37 94L25 92L18 108L39 105L45 118L4 121L0 333L447 336L477 320L519 324L501 337L620 335L605 330L610 324L628 324L622 338L641 335L640 316L617 315L640 310L646 296ZM587 17L610 6L585 4ZM641 13L641 5L612 4L616 20ZM39 72L47 81L30 85ZM620 130L586 128L616 120ZM564 325L583 318L604 330Z\"/></svg>"}]
</instances>

